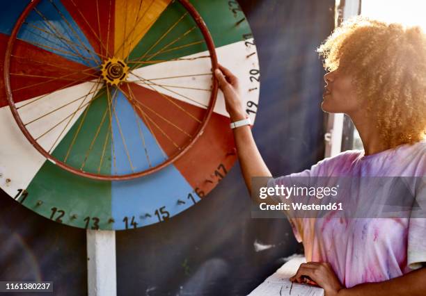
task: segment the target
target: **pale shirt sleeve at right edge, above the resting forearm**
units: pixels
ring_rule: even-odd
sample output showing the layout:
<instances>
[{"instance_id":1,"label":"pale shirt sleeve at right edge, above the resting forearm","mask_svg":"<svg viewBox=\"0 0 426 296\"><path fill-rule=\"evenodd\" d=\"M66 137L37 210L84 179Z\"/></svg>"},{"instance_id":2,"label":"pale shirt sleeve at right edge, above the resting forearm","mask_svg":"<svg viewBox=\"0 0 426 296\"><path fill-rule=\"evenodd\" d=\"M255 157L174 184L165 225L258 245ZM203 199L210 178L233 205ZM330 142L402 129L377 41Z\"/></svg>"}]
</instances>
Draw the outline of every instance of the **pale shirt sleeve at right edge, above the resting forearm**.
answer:
<instances>
[{"instance_id":1,"label":"pale shirt sleeve at right edge, above the resting forearm","mask_svg":"<svg viewBox=\"0 0 426 296\"><path fill-rule=\"evenodd\" d=\"M426 177L420 180L416 202L417 211L411 212L409 220L407 247L407 265L413 270L426 267Z\"/></svg>"}]
</instances>

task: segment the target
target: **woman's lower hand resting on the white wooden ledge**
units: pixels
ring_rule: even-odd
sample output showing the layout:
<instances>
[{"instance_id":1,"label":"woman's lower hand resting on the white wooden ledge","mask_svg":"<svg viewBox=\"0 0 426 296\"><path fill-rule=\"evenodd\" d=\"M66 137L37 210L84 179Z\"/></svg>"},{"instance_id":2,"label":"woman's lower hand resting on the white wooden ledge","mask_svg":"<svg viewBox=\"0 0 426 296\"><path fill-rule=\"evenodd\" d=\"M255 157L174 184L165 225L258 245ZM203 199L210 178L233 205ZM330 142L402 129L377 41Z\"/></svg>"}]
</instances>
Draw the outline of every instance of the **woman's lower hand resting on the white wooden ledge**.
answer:
<instances>
[{"instance_id":1,"label":"woman's lower hand resting on the white wooden ledge","mask_svg":"<svg viewBox=\"0 0 426 296\"><path fill-rule=\"evenodd\" d=\"M306 277L309 277L311 280L306 279ZM302 263L297 273L293 277L290 277L290 281L312 283L320 286L324 289L325 296L338 295L339 290L344 288L334 273L333 268L331 268L330 263L327 262Z\"/></svg>"}]
</instances>

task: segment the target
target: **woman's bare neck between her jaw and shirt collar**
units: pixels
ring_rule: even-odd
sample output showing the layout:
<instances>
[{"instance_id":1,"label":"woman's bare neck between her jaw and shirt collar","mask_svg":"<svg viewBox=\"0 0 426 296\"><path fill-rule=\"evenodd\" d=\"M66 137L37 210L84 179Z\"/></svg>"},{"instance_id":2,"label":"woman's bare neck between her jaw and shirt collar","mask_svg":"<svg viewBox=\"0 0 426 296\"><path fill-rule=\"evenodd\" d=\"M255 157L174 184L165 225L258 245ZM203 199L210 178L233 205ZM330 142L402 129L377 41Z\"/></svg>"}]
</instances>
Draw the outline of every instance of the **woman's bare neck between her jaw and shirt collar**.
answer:
<instances>
[{"instance_id":1,"label":"woman's bare neck between her jaw and shirt collar","mask_svg":"<svg viewBox=\"0 0 426 296\"><path fill-rule=\"evenodd\" d=\"M379 129L377 129L375 120L363 114L350 115L350 117L363 142L365 156L376 154L390 148L381 138L381 133Z\"/></svg>"}]
</instances>

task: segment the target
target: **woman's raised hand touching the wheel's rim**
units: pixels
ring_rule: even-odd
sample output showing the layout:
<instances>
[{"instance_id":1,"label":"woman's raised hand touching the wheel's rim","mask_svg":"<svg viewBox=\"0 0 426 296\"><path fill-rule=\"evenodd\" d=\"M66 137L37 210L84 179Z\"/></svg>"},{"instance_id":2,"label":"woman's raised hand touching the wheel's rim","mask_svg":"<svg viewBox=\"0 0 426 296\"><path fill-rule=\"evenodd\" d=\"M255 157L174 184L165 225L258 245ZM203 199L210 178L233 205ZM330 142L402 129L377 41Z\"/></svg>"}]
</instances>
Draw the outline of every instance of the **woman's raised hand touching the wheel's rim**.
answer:
<instances>
[{"instance_id":1,"label":"woman's raised hand touching the wheel's rim","mask_svg":"<svg viewBox=\"0 0 426 296\"><path fill-rule=\"evenodd\" d=\"M239 81L237 76L232 74L229 69L219 65L219 69L214 71L214 76L219 81L219 88L225 97L226 111L228 111L230 120L235 122L237 120L244 120L246 113L242 106L241 97L239 94Z\"/></svg>"}]
</instances>

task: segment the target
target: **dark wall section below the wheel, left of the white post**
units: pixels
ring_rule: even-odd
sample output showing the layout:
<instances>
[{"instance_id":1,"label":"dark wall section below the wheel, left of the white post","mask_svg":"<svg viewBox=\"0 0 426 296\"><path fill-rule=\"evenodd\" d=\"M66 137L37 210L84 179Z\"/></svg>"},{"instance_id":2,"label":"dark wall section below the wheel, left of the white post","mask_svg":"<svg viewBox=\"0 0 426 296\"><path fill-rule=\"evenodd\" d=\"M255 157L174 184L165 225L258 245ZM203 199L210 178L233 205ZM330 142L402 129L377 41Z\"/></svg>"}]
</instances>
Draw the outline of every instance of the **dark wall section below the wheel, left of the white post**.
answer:
<instances>
[{"instance_id":1,"label":"dark wall section below the wheel, left of the white post","mask_svg":"<svg viewBox=\"0 0 426 296\"><path fill-rule=\"evenodd\" d=\"M54 282L54 293L21 296L86 295L86 231L53 222L0 192L0 281Z\"/></svg>"}]
</instances>

